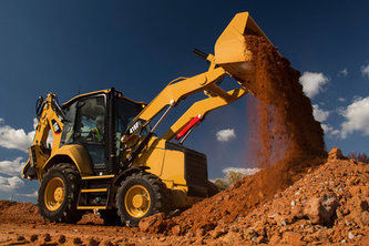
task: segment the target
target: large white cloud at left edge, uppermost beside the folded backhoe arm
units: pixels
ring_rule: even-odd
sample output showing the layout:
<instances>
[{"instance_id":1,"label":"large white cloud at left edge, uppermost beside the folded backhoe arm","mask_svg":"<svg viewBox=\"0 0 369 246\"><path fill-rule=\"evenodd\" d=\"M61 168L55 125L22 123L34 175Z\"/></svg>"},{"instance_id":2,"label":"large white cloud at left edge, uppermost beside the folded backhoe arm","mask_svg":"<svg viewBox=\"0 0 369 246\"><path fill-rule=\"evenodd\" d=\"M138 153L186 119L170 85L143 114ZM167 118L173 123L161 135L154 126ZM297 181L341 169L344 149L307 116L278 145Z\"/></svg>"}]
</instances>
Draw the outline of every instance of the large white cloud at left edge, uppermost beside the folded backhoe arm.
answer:
<instances>
[{"instance_id":1,"label":"large white cloud at left edge, uppermost beside the folded backhoe arm","mask_svg":"<svg viewBox=\"0 0 369 246\"><path fill-rule=\"evenodd\" d=\"M3 122L3 119L0 119L0 146L28 152L34 131L25 133L23 129L13 129Z\"/></svg>"}]
</instances>

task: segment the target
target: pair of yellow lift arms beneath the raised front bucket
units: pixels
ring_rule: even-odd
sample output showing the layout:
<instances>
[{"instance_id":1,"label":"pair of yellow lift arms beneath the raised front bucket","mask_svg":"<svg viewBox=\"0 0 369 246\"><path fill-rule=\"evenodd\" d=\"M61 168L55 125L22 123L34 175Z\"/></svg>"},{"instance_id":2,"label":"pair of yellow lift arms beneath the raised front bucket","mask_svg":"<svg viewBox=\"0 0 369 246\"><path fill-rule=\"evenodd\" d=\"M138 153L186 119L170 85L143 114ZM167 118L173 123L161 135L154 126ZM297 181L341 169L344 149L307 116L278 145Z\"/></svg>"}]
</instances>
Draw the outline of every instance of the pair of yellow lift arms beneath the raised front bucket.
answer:
<instances>
[{"instance_id":1,"label":"pair of yellow lift arms beneath the raised front bucket","mask_svg":"<svg viewBox=\"0 0 369 246\"><path fill-rule=\"evenodd\" d=\"M186 99L188 95L204 92L208 98L195 102L171 127L170 130L162 136L167 141L171 141L176 134L178 134L182 130L189 124L189 122L198 117L198 122L193 125L188 125L189 127L184 133L185 137L191 133L192 129L195 127L201 121L204 120L205 115L215 109L225 106L240 99L245 94L247 94L247 89L243 83L238 82L240 86L236 86L234 90L224 91L222 88L217 85L217 83L226 75L228 75L227 71L222 66L217 66L215 63L215 58L213 54L208 54L206 60L209 61L208 71L201 73L198 75L183 79L180 78L177 80L172 81L129 125L127 131L131 136L135 135L144 127L148 122L151 122L160 112L162 112L165 107L166 111L156 122L155 126L152 131L141 140L140 144L137 142L131 141L131 137L123 137L122 142L125 146L135 145L131 153L129 154L129 162L135 158L143 150L143 147L148 143L150 137L153 132L156 130L157 125L162 122L162 120L167 115L168 111L173 106L177 106L182 100ZM139 122L146 122L139 127L135 127ZM132 131L132 129L134 129ZM183 139L183 141L185 140ZM183 142L182 141L182 142ZM181 143L182 143L181 142Z\"/></svg>"}]
</instances>

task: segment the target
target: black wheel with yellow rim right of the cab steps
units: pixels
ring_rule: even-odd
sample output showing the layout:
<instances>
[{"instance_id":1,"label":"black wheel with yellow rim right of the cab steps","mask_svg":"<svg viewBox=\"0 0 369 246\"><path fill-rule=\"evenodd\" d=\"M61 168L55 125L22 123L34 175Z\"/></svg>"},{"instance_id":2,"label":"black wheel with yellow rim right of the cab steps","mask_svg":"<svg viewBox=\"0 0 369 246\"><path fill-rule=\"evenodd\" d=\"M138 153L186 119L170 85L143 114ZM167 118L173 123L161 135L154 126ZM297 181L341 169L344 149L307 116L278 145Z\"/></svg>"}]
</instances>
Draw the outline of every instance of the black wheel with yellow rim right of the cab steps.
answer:
<instances>
[{"instance_id":1,"label":"black wheel with yellow rim right of the cab steps","mask_svg":"<svg viewBox=\"0 0 369 246\"><path fill-rule=\"evenodd\" d=\"M137 226L151 215L167 213L170 208L168 191L165 184L150 173L134 173L117 188L116 208L122 223Z\"/></svg>"}]
</instances>

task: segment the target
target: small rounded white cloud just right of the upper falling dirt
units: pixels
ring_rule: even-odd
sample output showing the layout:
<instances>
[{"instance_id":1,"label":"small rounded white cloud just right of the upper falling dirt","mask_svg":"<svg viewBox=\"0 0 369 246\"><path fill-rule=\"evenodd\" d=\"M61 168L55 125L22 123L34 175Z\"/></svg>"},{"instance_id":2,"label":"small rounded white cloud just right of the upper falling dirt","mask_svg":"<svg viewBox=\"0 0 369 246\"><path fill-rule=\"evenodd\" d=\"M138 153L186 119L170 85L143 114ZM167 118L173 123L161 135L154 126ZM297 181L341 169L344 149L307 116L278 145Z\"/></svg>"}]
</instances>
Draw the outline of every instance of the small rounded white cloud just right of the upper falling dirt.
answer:
<instances>
[{"instance_id":1,"label":"small rounded white cloud just right of the upper falling dirt","mask_svg":"<svg viewBox=\"0 0 369 246\"><path fill-rule=\"evenodd\" d=\"M304 93L310 99L322 91L322 85L328 83L329 79L322 73L304 72L300 76Z\"/></svg>"}]
</instances>

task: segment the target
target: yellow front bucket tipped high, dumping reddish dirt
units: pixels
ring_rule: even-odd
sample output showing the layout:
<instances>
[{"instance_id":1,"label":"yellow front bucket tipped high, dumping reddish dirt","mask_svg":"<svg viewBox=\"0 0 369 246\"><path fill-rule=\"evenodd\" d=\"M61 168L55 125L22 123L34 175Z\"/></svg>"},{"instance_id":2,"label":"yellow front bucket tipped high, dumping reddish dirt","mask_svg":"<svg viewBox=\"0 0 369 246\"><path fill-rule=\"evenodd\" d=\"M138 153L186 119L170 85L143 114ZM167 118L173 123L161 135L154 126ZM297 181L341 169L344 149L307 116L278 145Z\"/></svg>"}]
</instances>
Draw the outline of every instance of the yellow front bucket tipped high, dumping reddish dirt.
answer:
<instances>
[{"instance_id":1,"label":"yellow front bucket tipped high, dumping reddish dirt","mask_svg":"<svg viewBox=\"0 0 369 246\"><path fill-rule=\"evenodd\" d=\"M242 82L252 80L254 74L250 63L253 53L247 49L244 38L247 34L264 37L270 42L248 12L242 12L237 13L223 31L214 51L215 62Z\"/></svg>"}]
</instances>

